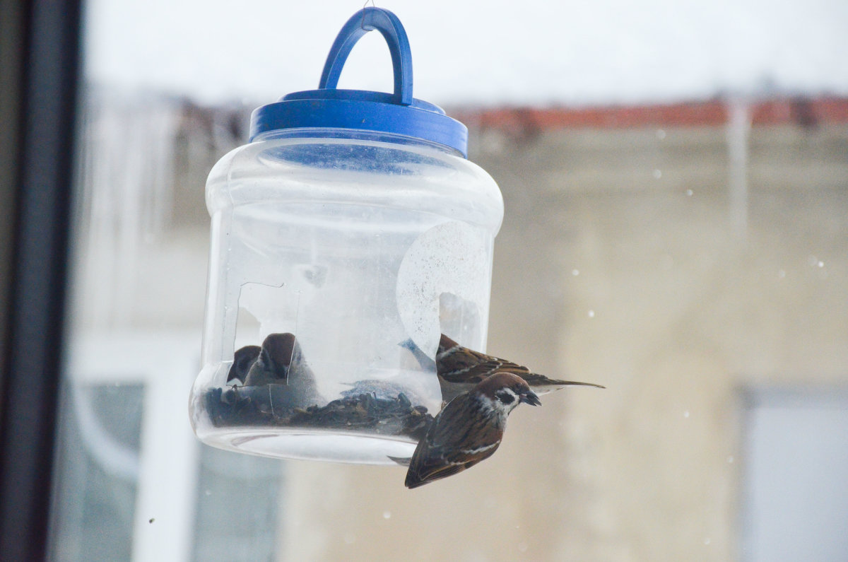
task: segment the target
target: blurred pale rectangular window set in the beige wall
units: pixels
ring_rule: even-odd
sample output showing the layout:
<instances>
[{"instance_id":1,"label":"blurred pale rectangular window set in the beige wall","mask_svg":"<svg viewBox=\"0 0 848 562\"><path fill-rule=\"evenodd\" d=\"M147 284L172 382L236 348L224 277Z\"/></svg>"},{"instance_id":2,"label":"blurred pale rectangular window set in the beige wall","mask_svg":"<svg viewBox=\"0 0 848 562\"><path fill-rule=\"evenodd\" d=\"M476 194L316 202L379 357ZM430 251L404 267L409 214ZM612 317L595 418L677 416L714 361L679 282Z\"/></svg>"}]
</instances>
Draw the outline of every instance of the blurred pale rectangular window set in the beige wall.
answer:
<instances>
[{"instance_id":1,"label":"blurred pale rectangular window set in the beige wall","mask_svg":"<svg viewBox=\"0 0 848 562\"><path fill-rule=\"evenodd\" d=\"M743 559L845 559L848 392L755 391L751 398Z\"/></svg>"}]
</instances>

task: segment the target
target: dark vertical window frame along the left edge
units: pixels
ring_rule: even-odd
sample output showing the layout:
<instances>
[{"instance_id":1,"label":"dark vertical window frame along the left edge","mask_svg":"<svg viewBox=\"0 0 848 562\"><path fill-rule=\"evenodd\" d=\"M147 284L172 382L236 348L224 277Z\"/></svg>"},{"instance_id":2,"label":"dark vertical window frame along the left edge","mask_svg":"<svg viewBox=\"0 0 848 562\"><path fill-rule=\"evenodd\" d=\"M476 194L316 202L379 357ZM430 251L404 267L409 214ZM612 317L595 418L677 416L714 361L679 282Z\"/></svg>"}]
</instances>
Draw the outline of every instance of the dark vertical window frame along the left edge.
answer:
<instances>
[{"instance_id":1,"label":"dark vertical window frame along the left edge","mask_svg":"<svg viewBox=\"0 0 848 562\"><path fill-rule=\"evenodd\" d=\"M3 3L0 559L47 558L81 2ZM9 212L13 211L14 212Z\"/></svg>"}]
</instances>

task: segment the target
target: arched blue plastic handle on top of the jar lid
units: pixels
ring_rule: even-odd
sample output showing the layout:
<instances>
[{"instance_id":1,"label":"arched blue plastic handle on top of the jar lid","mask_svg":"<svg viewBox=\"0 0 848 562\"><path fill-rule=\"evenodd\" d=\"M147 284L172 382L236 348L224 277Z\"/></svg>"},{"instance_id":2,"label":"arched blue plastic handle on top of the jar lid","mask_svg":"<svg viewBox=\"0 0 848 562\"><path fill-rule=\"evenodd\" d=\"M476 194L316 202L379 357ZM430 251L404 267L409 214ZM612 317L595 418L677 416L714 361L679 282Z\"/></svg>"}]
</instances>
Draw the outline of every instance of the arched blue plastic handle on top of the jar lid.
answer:
<instances>
[{"instance_id":1,"label":"arched blue plastic handle on top of the jar lid","mask_svg":"<svg viewBox=\"0 0 848 562\"><path fill-rule=\"evenodd\" d=\"M392 69L394 71L395 104L412 104L412 53L410 41L398 16L383 8L362 8L354 14L342 31L338 32L336 41L332 43L330 54L327 55L324 71L318 88L321 90L335 89L342 67L348 59L351 49L360 37L371 30L380 31L388 43L388 51L392 53Z\"/></svg>"}]
</instances>

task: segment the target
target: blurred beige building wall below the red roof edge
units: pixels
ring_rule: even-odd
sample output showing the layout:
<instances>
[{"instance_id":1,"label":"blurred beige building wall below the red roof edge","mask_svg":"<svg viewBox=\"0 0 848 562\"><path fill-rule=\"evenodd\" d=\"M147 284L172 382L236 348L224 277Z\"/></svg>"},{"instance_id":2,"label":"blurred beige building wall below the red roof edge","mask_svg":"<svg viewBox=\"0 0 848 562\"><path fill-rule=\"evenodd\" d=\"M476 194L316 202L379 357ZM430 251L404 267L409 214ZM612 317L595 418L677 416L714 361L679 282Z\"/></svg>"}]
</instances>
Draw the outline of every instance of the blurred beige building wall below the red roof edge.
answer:
<instances>
[{"instance_id":1,"label":"blurred beige building wall below the red roof edge","mask_svg":"<svg viewBox=\"0 0 848 562\"><path fill-rule=\"evenodd\" d=\"M472 134L506 206L488 351L607 389L414 491L287 464L282 559L736 558L740 391L848 385L848 127L755 127L743 228L723 128Z\"/></svg>"}]
</instances>

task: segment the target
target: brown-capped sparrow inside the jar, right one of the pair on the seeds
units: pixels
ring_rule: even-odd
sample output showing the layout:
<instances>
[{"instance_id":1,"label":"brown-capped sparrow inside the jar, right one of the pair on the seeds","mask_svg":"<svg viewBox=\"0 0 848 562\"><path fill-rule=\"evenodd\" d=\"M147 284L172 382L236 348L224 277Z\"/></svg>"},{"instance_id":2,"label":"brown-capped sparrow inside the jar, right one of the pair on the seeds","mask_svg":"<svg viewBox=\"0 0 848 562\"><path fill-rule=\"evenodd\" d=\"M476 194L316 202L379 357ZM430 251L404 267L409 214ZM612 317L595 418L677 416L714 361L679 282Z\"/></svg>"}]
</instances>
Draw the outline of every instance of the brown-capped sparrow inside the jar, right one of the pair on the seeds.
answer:
<instances>
[{"instance_id":1,"label":"brown-capped sparrow inside the jar, right one of the pair on the seeds","mask_svg":"<svg viewBox=\"0 0 848 562\"><path fill-rule=\"evenodd\" d=\"M305 362L294 334L268 334L244 385L285 385L287 403L279 405L301 407L321 402L315 388L315 374Z\"/></svg>"}]
</instances>

